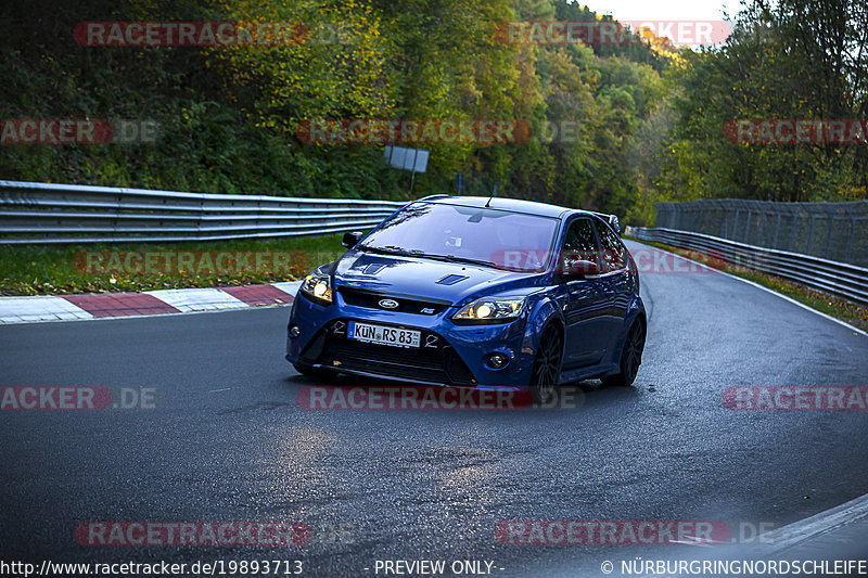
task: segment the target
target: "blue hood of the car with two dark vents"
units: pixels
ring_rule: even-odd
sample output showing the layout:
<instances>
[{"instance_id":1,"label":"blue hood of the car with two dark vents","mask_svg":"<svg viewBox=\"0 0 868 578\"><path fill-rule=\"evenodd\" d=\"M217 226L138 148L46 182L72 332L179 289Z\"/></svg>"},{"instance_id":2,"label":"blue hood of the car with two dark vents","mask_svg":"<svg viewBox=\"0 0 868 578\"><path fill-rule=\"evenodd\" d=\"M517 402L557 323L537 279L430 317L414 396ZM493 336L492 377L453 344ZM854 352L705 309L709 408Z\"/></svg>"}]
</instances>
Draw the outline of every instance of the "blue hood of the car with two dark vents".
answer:
<instances>
[{"instance_id":1,"label":"blue hood of the car with two dark vents","mask_svg":"<svg viewBox=\"0 0 868 578\"><path fill-rule=\"evenodd\" d=\"M510 290L524 294L537 284L536 281L541 281L541 277L540 273L361 251L348 251L334 268L336 287L426 297L450 304Z\"/></svg>"}]
</instances>

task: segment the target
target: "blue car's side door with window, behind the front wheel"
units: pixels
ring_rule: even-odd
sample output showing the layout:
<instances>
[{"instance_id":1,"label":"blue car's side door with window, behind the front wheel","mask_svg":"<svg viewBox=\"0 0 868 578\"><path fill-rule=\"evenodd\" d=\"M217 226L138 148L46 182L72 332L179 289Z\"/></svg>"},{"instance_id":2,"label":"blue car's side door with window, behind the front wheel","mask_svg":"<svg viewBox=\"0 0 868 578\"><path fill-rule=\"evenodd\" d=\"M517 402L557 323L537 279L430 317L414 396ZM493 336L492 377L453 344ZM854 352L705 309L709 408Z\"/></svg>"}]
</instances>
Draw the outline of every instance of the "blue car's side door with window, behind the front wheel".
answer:
<instances>
[{"instance_id":1,"label":"blue car's side door with window, behind the front wheel","mask_svg":"<svg viewBox=\"0 0 868 578\"><path fill-rule=\"evenodd\" d=\"M601 265L597 235L590 219L586 217L570 223L560 256L567 288L563 311L566 320L564 370L595 365L605 352L605 343L600 339L600 334L607 330L607 295L597 275L574 272L571 264L576 260L591 261L598 267Z\"/></svg>"}]
</instances>

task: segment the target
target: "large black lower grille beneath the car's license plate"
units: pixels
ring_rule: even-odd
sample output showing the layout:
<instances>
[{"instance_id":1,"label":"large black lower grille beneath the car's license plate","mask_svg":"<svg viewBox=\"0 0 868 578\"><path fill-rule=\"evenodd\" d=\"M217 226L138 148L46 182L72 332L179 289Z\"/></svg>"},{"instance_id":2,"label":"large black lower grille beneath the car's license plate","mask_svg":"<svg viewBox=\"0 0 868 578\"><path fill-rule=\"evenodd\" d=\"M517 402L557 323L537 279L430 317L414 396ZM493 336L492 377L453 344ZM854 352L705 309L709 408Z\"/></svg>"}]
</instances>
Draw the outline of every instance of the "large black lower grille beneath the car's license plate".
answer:
<instances>
[{"instance_id":1,"label":"large black lower grille beneath the car's license plate","mask_svg":"<svg viewBox=\"0 0 868 578\"><path fill-rule=\"evenodd\" d=\"M438 334L421 330L419 348L391 347L346 338L346 320L332 322L316 363L376 375L449 385L476 385L470 368Z\"/></svg>"}]
</instances>

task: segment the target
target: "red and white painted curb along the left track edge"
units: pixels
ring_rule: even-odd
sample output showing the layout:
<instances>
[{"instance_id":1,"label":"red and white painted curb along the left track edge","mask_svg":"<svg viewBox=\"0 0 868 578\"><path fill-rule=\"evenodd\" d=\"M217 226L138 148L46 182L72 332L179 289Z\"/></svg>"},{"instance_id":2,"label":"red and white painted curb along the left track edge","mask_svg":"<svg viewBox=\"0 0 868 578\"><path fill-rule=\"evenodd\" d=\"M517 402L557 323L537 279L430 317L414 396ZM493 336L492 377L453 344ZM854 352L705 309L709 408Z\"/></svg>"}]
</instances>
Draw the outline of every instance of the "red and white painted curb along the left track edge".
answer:
<instances>
[{"instance_id":1,"label":"red and white painted curb along the left track edge","mask_svg":"<svg viewBox=\"0 0 868 578\"><path fill-rule=\"evenodd\" d=\"M301 285L301 281L270 285L159 290L143 293L0 297L0 324L190 313L289 305L295 298L298 285Z\"/></svg>"}]
</instances>

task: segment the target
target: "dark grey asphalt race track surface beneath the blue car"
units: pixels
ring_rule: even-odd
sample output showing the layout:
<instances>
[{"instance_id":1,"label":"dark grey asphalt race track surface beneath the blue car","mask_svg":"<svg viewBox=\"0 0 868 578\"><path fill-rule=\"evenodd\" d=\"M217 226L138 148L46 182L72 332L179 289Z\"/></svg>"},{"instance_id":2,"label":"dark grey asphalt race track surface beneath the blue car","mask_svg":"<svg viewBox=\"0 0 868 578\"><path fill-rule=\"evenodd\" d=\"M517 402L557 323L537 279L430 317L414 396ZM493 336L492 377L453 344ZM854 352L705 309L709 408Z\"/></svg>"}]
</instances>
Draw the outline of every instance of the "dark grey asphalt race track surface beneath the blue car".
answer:
<instances>
[{"instance_id":1,"label":"dark grey asphalt race track surface beneath the blue car","mask_svg":"<svg viewBox=\"0 0 868 578\"><path fill-rule=\"evenodd\" d=\"M495 576L528 576L636 549L501 544L499 522L781 526L868 492L865 411L743 411L722 397L866 386L868 337L719 273L641 281L650 322L637 383L585 382L567 391L579 402L558 409L302 409L299 388L319 382L283 360L288 308L2 326L2 386L155 395L153 409L0 412L3 558L299 560L303 576L477 560ZM89 521L298 521L311 537L80 545L74 530ZM673 548L685 547L642 552Z\"/></svg>"}]
</instances>

